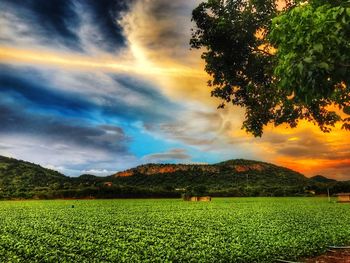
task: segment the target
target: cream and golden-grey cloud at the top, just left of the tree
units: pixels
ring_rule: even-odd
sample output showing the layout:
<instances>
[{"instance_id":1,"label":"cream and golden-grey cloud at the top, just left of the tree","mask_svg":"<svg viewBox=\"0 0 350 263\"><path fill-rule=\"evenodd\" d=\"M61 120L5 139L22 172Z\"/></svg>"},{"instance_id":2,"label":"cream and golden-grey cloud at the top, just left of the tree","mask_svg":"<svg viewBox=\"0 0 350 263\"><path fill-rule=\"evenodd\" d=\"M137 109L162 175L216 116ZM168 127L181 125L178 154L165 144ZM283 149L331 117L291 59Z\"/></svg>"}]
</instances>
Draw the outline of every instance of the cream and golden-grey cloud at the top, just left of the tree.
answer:
<instances>
[{"instance_id":1,"label":"cream and golden-grey cloud at the top, just left of the tree","mask_svg":"<svg viewBox=\"0 0 350 263\"><path fill-rule=\"evenodd\" d=\"M200 1L140 0L122 20L131 46L138 46L148 59L159 56L198 64L188 56L192 9ZM137 30L136 30L137 28ZM150 30L152 29L152 30Z\"/></svg>"}]
</instances>

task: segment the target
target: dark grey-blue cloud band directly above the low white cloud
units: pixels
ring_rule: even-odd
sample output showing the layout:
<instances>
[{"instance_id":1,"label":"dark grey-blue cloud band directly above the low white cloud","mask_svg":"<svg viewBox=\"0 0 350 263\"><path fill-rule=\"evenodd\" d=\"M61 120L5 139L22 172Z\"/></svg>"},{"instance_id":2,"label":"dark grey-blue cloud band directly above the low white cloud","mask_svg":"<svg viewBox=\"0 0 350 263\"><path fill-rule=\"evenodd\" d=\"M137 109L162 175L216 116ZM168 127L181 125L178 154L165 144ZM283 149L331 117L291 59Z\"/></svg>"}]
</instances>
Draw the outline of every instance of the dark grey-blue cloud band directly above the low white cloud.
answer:
<instances>
[{"instance_id":1,"label":"dark grey-blue cloud band directly above the low white cloud","mask_svg":"<svg viewBox=\"0 0 350 263\"><path fill-rule=\"evenodd\" d=\"M127 143L131 138L120 127L92 125L72 118L30 113L18 106L1 103L1 134L24 134L50 139L53 143L127 153Z\"/></svg>"}]
</instances>

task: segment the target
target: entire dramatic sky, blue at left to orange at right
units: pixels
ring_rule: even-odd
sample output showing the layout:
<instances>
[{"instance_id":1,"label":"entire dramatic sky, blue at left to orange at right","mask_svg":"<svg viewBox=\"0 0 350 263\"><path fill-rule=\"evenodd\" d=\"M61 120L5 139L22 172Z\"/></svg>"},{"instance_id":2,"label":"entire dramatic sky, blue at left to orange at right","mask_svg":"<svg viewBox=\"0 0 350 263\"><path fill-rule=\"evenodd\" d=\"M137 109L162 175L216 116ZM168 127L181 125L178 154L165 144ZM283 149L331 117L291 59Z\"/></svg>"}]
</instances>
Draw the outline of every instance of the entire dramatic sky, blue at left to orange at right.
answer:
<instances>
[{"instance_id":1,"label":"entire dramatic sky, blue at left to orange at right","mask_svg":"<svg viewBox=\"0 0 350 263\"><path fill-rule=\"evenodd\" d=\"M217 109L193 0L1 0L0 155L69 176L144 163L272 162L350 180L349 133L311 123L241 129Z\"/></svg>"}]
</instances>

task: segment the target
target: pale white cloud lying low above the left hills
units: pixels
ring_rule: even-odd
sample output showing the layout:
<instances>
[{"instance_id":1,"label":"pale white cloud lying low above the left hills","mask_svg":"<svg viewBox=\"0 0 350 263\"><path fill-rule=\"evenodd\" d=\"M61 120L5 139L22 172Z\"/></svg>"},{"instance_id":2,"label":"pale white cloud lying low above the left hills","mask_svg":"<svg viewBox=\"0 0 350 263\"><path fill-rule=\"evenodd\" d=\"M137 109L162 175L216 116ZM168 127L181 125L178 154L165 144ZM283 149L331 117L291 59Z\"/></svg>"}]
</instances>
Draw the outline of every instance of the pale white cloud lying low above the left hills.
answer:
<instances>
[{"instance_id":1,"label":"pale white cloud lying low above the left hills","mask_svg":"<svg viewBox=\"0 0 350 263\"><path fill-rule=\"evenodd\" d=\"M128 152L110 152L71 141L55 141L49 136L24 133L1 133L0 136L2 141L6 141L5 147L0 146L1 155L39 163L70 176L93 170L99 171L98 175L110 175L139 163Z\"/></svg>"}]
</instances>

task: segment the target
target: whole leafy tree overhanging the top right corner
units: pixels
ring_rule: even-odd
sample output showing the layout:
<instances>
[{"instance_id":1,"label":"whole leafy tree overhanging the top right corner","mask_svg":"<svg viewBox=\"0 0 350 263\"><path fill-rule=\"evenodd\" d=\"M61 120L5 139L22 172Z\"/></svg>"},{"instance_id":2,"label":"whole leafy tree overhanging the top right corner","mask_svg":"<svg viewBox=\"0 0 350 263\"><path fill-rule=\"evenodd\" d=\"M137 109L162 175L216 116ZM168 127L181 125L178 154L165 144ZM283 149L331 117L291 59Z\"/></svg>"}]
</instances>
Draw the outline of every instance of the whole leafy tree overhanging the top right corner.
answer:
<instances>
[{"instance_id":1,"label":"whole leafy tree overhanging the top right corner","mask_svg":"<svg viewBox=\"0 0 350 263\"><path fill-rule=\"evenodd\" d=\"M350 129L349 118L329 109L337 106L350 114L347 5L285 1L279 11L274 0L201 3L192 13L196 28L190 44L205 48L208 85L212 96L223 100L219 108L227 103L244 107L242 128L254 136L269 123L296 127L300 119L325 132L338 121ZM331 16L332 23L319 25ZM329 36L318 37L326 29ZM328 46L333 41L339 41L336 51Z\"/></svg>"}]
</instances>

